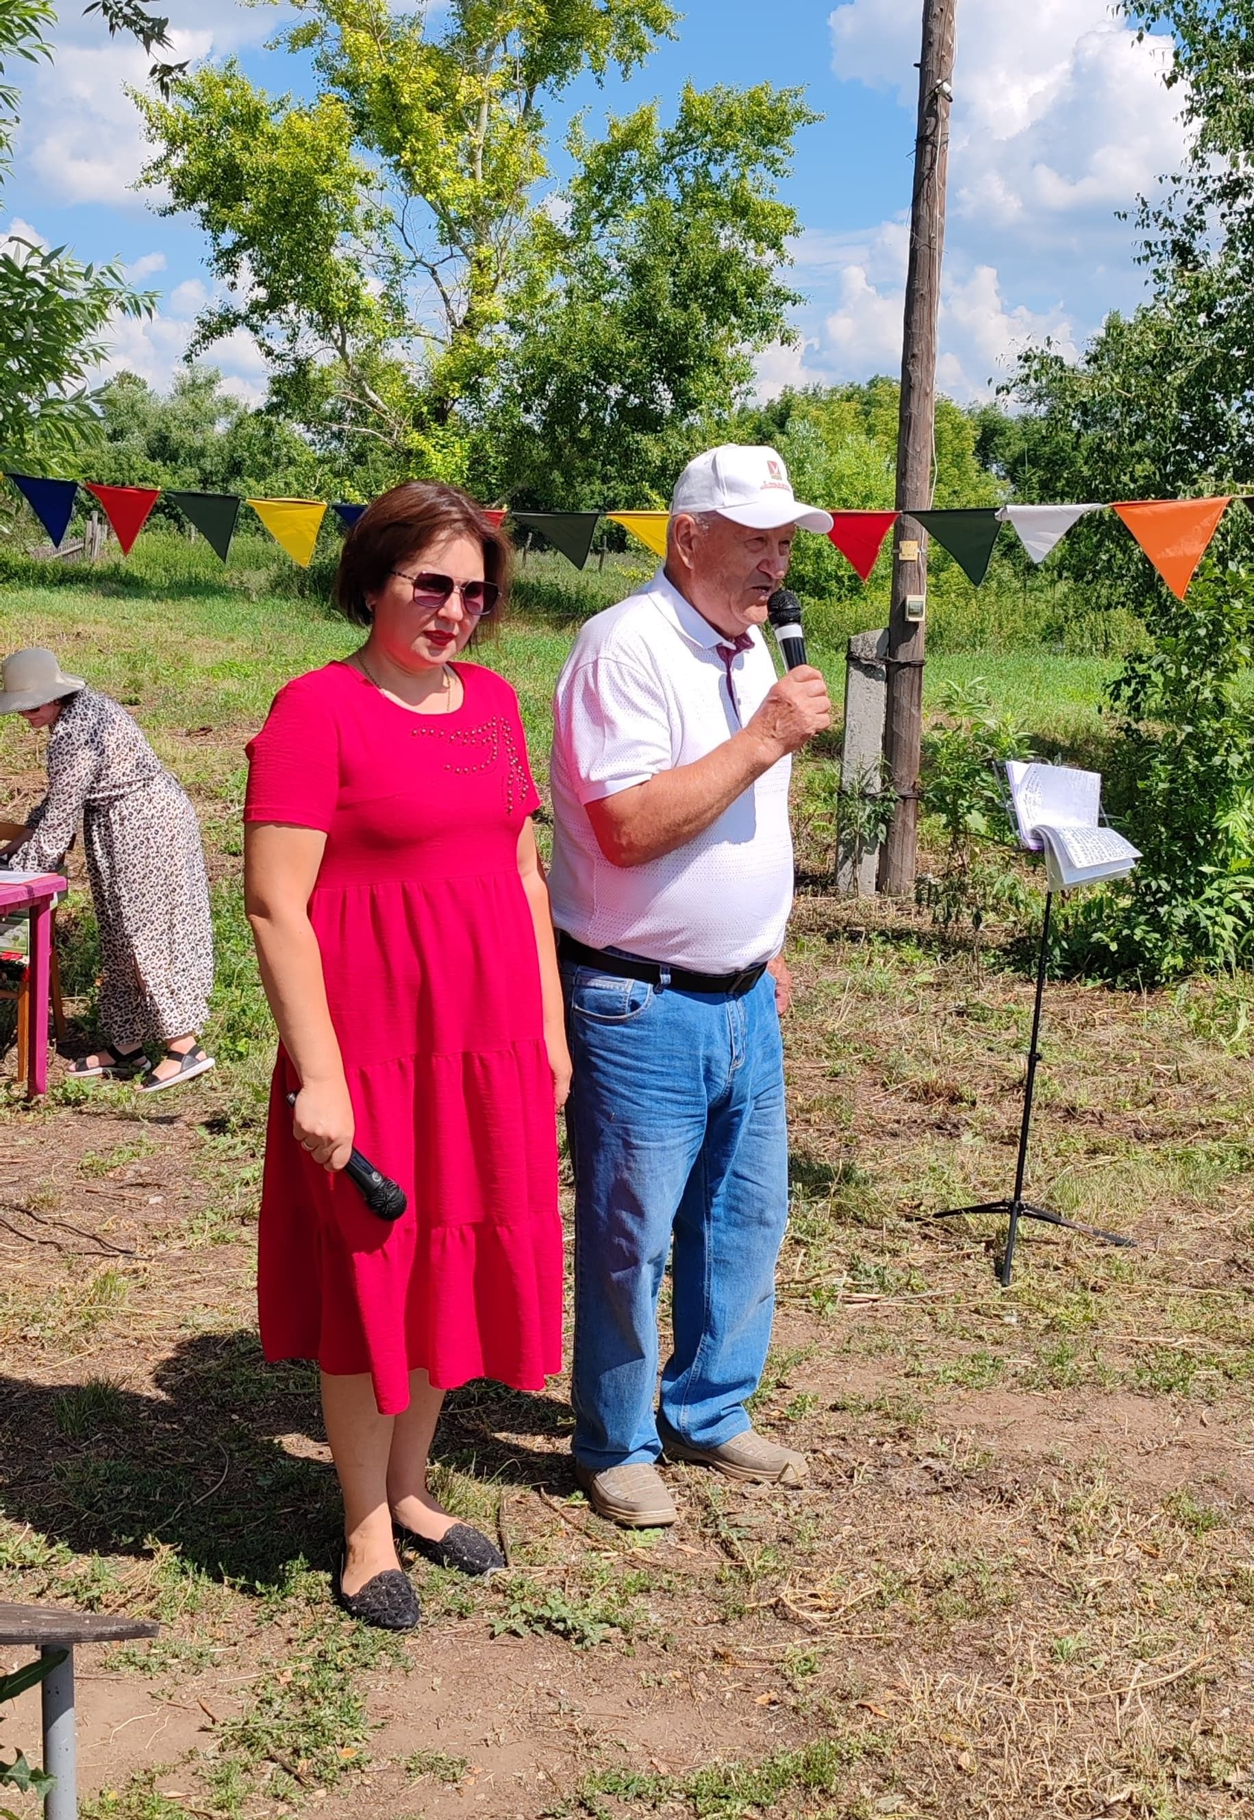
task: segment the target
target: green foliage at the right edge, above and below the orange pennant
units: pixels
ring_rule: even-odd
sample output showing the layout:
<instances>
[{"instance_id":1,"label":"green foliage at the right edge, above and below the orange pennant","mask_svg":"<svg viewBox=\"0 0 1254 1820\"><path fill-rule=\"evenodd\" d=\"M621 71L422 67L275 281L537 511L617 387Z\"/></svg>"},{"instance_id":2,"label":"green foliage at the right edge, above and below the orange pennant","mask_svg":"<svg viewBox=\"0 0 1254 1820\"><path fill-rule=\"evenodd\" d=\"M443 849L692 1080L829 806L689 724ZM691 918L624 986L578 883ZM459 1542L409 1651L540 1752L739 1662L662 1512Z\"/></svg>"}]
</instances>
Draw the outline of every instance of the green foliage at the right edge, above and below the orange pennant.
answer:
<instances>
[{"instance_id":1,"label":"green foliage at the right edge, above and below the orange pennant","mask_svg":"<svg viewBox=\"0 0 1254 1820\"><path fill-rule=\"evenodd\" d=\"M1254 475L1254 0L1123 0L1168 27L1165 71L1190 144L1141 198L1152 298L1110 315L1079 360L1048 344L1019 362L1026 413L988 426L985 451L1019 497L1241 493ZM1141 648L1112 688L1112 803L1143 859L1070 908L1087 968L1145 983L1254 961L1254 526L1227 515L1187 601L1108 513L1068 533L1059 571L1134 610Z\"/></svg>"}]
</instances>

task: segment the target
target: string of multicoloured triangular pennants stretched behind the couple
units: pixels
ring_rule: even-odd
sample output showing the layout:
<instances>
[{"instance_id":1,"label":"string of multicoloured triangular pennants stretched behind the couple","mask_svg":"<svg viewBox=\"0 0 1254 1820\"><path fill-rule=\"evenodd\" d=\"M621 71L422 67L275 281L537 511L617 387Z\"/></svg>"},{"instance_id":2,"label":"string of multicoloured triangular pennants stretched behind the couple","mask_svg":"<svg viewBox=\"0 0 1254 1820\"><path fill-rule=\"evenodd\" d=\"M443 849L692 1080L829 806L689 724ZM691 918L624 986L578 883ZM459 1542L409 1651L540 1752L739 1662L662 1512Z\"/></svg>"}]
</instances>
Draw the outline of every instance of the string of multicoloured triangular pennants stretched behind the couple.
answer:
<instances>
[{"instance_id":1,"label":"string of multicoloured triangular pennants stretched behind the couple","mask_svg":"<svg viewBox=\"0 0 1254 1820\"><path fill-rule=\"evenodd\" d=\"M328 502L320 499L238 499L235 493L106 486L102 480L62 480L7 471L5 480L27 502L47 531L53 548L60 548L66 537L82 486L102 508L122 546L122 555L131 553L135 539L147 524L158 499L169 500L224 562L238 528L240 506L246 504L257 513L275 542L302 568L313 561L328 510L335 511L346 531L353 530L366 510L364 504L349 500L335 500L328 508ZM912 511L910 517L957 562L972 586L979 588L988 575L1003 524L1012 526L1032 562L1045 562L1081 519L1094 511L1114 511L1165 584L1183 601L1234 497L1238 495L1123 499L1110 504L1090 500L1076 506L954 506ZM1239 497L1254 511L1254 497ZM602 519L621 524L653 555L666 557L670 517L666 511L511 511L508 506L493 506L486 517L497 526L508 517L521 530L535 531L579 570L588 564ZM828 537L863 582L870 581L885 541L899 517L899 511L837 510L832 513Z\"/></svg>"}]
</instances>

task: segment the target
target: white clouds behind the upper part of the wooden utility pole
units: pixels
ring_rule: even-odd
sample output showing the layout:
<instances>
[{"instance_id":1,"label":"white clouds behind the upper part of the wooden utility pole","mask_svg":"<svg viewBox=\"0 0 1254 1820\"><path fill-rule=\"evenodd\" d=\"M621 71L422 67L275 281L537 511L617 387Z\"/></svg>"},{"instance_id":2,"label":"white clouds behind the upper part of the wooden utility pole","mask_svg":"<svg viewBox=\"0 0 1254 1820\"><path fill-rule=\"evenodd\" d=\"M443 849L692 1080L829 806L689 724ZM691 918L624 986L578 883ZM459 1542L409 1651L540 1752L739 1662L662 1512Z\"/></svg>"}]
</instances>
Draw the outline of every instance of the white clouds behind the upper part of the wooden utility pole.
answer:
<instances>
[{"instance_id":1,"label":"white clouds behind the upper part of the wooden utility pole","mask_svg":"<svg viewBox=\"0 0 1254 1820\"><path fill-rule=\"evenodd\" d=\"M895 89L912 133L919 0L846 0L830 15L832 67ZM1138 44L1110 0L963 0L957 22L939 379L957 397L1005 375L1028 340L1063 349L1136 300L1134 209L1179 164L1181 91L1170 40ZM799 246L823 311L819 359L841 377L897 371L908 228Z\"/></svg>"}]
</instances>

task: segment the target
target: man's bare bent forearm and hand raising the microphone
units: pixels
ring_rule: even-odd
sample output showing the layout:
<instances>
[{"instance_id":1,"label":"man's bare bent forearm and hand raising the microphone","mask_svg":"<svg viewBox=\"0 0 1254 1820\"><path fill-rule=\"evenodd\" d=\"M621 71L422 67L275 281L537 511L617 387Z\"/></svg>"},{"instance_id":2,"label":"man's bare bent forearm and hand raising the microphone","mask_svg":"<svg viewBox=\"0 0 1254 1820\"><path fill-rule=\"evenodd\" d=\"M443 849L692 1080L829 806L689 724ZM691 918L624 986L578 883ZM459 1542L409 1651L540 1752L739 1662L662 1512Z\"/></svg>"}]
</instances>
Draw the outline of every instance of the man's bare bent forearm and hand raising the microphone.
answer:
<instances>
[{"instance_id":1,"label":"man's bare bent forearm and hand raising the microphone","mask_svg":"<svg viewBox=\"0 0 1254 1820\"><path fill-rule=\"evenodd\" d=\"M662 859L712 828L772 764L832 724L823 675L792 670L772 688L748 726L692 764L588 803L597 844L613 866Z\"/></svg>"}]
</instances>

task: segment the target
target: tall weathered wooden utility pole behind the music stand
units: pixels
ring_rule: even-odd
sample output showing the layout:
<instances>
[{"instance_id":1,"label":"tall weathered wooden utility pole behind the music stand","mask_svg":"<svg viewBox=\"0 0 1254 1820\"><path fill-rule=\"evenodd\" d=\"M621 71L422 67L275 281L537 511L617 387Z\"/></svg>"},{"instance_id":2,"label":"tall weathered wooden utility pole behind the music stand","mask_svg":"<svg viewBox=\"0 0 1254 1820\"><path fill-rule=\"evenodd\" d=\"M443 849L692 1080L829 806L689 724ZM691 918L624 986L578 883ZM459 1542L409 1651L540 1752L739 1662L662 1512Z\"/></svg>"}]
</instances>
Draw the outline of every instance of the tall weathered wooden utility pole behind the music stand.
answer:
<instances>
[{"instance_id":1,"label":"tall weathered wooden utility pole behind the music stand","mask_svg":"<svg viewBox=\"0 0 1254 1820\"><path fill-rule=\"evenodd\" d=\"M941 308L945 253L945 180L950 151L950 106L957 0L923 0L919 58L919 129L914 147L910 269L901 349L901 420L897 428L897 519L888 619L888 712L885 766L895 808L879 854L879 890L905 897L914 890L919 839L919 755L923 746L923 613L928 592L928 542L912 508L932 504L935 450L935 318Z\"/></svg>"}]
</instances>

